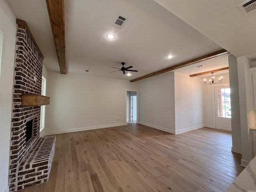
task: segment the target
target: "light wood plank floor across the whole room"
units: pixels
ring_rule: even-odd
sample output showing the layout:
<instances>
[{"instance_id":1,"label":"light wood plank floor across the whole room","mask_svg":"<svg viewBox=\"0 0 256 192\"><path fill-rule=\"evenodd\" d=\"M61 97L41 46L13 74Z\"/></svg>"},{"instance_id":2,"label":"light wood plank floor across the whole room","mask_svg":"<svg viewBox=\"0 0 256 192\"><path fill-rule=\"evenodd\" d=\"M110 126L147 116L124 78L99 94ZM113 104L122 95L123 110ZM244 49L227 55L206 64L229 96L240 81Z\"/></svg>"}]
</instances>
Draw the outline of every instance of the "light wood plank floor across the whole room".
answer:
<instances>
[{"instance_id":1,"label":"light wood plank floor across the whole room","mask_svg":"<svg viewBox=\"0 0 256 192\"><path fill-rule=\"evenodd\" d=\"M50 179L20 192L222 192L242 172L231 133L127 126L56 135Z\"/></svg>"}]
</instances>

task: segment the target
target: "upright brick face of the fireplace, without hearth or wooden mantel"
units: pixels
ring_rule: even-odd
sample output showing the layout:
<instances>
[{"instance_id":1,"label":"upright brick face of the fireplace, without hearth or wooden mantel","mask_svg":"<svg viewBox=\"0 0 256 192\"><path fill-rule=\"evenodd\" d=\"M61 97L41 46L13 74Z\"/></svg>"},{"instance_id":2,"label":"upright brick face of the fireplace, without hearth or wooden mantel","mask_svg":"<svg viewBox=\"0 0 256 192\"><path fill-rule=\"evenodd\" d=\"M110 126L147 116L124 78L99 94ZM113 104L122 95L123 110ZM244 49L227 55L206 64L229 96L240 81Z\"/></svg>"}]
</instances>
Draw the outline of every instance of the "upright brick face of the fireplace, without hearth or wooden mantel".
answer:
<instances>
[{"instance_id":1,"label":"upright brick face of the fireplace, without hearth or wooden mantel","mask_svg":"<svg viewBox=\"0 0 256 192\"><path fill-rule=\"evenodd\" d=\"M15 50L9 184L17 180L17 168L39 137L40 107L21 107L21 94L41 94L43 57L25 26L17 24ZM26 122L34 119L34 133L26 143Z\"/></svg>"}]
</instances>

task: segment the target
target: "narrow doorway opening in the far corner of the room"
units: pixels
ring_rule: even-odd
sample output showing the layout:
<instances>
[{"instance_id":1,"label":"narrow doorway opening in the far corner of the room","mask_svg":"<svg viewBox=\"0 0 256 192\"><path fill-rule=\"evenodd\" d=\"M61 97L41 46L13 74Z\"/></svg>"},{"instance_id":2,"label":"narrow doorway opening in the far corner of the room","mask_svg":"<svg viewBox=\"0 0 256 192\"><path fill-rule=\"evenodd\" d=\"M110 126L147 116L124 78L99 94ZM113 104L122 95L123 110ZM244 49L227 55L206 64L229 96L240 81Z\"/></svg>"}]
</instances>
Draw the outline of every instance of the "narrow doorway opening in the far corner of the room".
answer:
<instances>
[{"instance_id":1,"label":"narrow doorway opening in the far corner of the room","mask_svg":"<svg viewBox=\"0 0 256 192\"><path fill-rule=\"evenodd\" d=\"M127 91L126 99L126 121L137 122L137 111L138 111L138 97L137 91Z\"/></svg>"}]
</instances>

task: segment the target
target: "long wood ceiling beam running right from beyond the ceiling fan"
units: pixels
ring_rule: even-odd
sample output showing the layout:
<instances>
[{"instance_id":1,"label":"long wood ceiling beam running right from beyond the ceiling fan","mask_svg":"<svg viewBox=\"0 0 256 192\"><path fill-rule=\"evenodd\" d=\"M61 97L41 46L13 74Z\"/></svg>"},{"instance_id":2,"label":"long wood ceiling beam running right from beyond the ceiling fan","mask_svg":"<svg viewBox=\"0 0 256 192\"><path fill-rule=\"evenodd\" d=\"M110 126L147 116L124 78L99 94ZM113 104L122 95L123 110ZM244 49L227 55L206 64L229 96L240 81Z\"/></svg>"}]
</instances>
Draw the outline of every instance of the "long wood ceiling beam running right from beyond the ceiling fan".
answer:
<instances>
[{"instance_id":1,"label":"long wood ceiling beam running right from beyond the ceiling fan","mask_svg":"<svg viewBox=\"0 0 256 192\"><path fill-rule=\"evenodd\" d=\"M130 80L130 82L136 82L138 80L149 78L149 77L152 77L152 76L155 76L155 75L159 75L159 74L162 74L162 73L165 73L165 72L168 72L168 71L172 71L172 70L175 70L175 69L178 69L178 68L182 68L182 67L185 67L185 66L188 66L188 65L192 65L194 63L205 61L205 60L208 60L208 59L211 59L211 58L214 58L214 57L218 57L218 56L221 56L221 55L225 55L225 54L228 54L228 53L229 52L227 50L222 49L222 50L219 50L219 51L216 51L216 52L213 52L213 53L210 53L210 54L207 54L207 55L204 55L204 56L201 56L201 57L198 57L198 58L195 58L195 59L192 59L192 60L180 63L180 64L176 64L174 66L170 66L168 68L165 68L165 69L162 69L162 70L159 70L159 71L141 76L139 78Z\"/></svg>"}]
</instances>

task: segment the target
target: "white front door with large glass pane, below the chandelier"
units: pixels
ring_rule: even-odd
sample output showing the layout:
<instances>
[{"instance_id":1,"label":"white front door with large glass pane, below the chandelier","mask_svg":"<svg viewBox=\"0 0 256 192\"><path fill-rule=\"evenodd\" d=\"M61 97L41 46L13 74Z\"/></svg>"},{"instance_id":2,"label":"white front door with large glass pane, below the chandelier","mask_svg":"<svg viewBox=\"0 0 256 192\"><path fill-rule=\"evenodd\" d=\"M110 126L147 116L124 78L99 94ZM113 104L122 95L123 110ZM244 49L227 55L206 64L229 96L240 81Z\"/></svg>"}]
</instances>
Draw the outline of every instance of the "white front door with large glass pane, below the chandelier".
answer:
<instances>
[{"instance_id":1,"label":"white front door with large glass pane, below the chandelier","mask_svg":"<svg viewBox=\"0 0 256 192\"><path fill-rule=\"evenodd\" d=\"M215 126L217 129L231 131L231 106L230 106L230 88L215 87Z\"/></svg>"}]
</instances>

